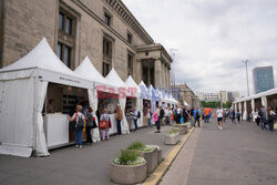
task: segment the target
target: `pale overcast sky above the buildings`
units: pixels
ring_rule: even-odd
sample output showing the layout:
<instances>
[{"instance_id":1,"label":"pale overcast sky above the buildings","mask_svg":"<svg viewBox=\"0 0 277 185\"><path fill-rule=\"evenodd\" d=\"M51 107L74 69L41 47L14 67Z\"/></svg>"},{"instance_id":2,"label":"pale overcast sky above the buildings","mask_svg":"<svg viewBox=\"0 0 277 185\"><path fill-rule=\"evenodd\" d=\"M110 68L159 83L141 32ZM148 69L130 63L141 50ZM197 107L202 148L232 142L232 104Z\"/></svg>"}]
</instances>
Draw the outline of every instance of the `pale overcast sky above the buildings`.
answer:
<instances>
[{"instance_id":1,"label":"pale overcast sky above the buildings","mask_svg":"<svg viewBox=\"0 0 277 185\"><path fill-rule=\"evenodd\" d=\"M277 88L277 0L123 0L153 40L174 49L176 83L250 94L253 69L273 65Z\"/></svg>"}]
</instances>

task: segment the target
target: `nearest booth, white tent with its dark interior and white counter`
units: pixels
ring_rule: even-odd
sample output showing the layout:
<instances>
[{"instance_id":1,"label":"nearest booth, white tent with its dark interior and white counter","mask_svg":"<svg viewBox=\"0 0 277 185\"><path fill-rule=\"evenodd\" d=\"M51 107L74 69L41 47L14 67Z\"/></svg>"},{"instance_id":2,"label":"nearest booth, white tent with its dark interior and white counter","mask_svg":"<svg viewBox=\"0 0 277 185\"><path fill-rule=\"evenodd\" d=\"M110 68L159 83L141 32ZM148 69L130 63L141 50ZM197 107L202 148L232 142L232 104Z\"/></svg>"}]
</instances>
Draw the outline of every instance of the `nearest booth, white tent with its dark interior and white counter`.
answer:
<instances>
[{"instance_id":1,"label":"nearest booth, white tent with its dark interior and white counter","mask_svg":"<svg viewBox=\"0 0 277 185\"><path fill-rule=\"evenodd\" d=\"M89 97L92 84L61 62L45 38L0 69L0 153L48 156L50 147L69 143L65 114ZM57 110L48 112L50 99Z\"/></svg>"}]
</instances>

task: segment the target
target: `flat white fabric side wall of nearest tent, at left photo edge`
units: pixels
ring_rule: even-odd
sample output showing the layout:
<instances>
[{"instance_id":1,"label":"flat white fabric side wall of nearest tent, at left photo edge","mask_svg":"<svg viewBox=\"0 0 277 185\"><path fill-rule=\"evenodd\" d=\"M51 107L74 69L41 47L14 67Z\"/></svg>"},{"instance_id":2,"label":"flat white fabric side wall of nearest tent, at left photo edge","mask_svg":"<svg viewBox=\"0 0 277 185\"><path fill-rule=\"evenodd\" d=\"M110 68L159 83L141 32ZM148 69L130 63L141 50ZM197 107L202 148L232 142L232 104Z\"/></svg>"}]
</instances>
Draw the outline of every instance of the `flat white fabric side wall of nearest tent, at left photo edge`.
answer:
<instances>
[{"instance_id":1,"label":"flat white fabric side wall of nearest tent, at left photo edge","mask_svg":"<svg viewBox=\"0 0 277 185\"><path fill-rule=\"evenodd\" d=\"M4 81L1 86L0 141L6 148L11 146L12 150L0 150L0 153L28 157L34 135L34 79Z\"/></svg>"}]
</instances>

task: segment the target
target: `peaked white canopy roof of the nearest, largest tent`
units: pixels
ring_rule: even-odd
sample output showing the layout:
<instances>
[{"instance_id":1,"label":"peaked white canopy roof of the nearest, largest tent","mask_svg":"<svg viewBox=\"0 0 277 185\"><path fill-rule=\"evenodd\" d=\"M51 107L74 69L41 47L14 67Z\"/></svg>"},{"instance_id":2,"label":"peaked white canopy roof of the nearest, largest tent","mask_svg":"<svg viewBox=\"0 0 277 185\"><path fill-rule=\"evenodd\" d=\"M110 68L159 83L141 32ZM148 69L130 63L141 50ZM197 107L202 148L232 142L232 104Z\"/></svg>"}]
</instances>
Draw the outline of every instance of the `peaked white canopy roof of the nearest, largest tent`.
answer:
<instances>
[{"instance_id":1,"label":"peaked white canopy roof of the nearest, largest tent","mask_svg":"<svg viewBox=\"0 0 277 185\"><path fill-rule=\"evenodd\" d=\"M92 88L89 80L71 71L53 52L45 38L19 61L0 69L0 80L37 75L40 80L80 88Z\"/></svg>"}]
</instances>

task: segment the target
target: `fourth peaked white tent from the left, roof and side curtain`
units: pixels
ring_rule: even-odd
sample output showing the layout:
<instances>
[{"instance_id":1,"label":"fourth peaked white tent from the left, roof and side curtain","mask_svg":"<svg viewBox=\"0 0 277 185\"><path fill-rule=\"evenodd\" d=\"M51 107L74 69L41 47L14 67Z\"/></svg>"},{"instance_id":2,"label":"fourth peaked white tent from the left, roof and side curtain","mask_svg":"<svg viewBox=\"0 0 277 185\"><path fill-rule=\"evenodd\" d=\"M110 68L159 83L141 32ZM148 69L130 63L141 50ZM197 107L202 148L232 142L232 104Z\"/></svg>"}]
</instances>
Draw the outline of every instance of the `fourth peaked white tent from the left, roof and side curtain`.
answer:
<instances>
[{"instance_id":1,"label":"fourth peaked white tent from the left, roof and side curtain","mask_svg":"<svg viewBox=\"0 0 277 185\"><path fill-rule=\"evenodd\" d=\"M134 93L136 97L136 107L141 113L141 119L138 119L137 126L142 127L143 126L143 99L141 99L141 89L138 85L135 83L134 79L130 75L127 80L125 81L126 85L129 89L136 89L136 92Z\"/></svg>"}]
</instances>

